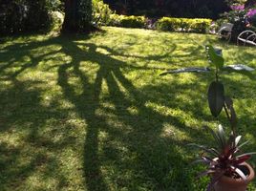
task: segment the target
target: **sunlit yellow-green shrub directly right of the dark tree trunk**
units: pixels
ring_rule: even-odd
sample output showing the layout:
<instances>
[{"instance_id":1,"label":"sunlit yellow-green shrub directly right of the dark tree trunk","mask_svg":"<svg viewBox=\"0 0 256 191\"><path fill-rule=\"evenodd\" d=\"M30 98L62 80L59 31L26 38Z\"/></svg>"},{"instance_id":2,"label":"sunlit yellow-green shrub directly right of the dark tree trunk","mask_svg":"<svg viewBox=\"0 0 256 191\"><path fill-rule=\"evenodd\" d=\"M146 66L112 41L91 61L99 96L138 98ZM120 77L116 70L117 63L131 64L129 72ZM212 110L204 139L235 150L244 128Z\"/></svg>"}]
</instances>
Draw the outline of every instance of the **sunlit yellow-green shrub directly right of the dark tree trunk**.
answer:
<instances>
[{"instance_id":1,"label":"sunlit yellow-green shrub directly right of the dark tree trunk","mask_svg":"<svg viewBox=\"0 0 256 191\"><path fill-rule=\"evenodd\" d=\"M111 14L114 14L109 5L104 4L103 0L93 0L93 24L96 26L109 25Z\"/></svg>"}]
</instances>

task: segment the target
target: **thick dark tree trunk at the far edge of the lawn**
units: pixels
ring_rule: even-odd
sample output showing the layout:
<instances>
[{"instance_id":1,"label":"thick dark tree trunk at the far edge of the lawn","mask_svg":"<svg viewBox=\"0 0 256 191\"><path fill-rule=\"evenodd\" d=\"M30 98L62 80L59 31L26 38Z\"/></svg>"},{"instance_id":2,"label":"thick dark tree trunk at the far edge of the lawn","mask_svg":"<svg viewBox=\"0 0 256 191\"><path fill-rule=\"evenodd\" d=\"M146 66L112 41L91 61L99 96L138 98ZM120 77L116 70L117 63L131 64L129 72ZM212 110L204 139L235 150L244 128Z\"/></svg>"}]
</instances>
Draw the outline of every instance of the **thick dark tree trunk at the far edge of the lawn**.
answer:
<instances>
[{"instance_id":1,"label":"thick dark tree trunk at the far edge of the lawn","mask_svg":"<svg viewBox=\"0 0 256 191\"><path fill-rule=\"evenodd\" d=\"M65 18L62 32L89 32L92 30L92 0L65 0Z\"/></svg>"}]
</instances>

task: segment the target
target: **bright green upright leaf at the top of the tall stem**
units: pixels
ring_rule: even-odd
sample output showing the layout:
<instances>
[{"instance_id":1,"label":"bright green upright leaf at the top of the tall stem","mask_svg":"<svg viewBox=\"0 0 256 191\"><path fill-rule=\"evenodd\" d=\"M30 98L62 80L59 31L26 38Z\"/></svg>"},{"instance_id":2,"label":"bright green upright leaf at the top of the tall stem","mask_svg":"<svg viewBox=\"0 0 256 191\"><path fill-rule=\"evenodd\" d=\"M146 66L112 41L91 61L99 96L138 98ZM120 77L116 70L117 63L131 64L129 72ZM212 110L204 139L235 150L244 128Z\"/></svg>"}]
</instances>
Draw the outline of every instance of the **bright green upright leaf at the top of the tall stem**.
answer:
<instances>
[{"instance_id":1,"label":"bright green upright leaf at the top of the tall stem","mask_svg":"<svg viewBox=\"0 0 256 191\"><path fill-rule=\"evenodd\" d=\"M218 69L222 69L224 67L224 57L221 54L216 53L215 49L211 45L206 46L206 52L208 54L210 64L214 65Z\"/></svg>"}]
</instances>

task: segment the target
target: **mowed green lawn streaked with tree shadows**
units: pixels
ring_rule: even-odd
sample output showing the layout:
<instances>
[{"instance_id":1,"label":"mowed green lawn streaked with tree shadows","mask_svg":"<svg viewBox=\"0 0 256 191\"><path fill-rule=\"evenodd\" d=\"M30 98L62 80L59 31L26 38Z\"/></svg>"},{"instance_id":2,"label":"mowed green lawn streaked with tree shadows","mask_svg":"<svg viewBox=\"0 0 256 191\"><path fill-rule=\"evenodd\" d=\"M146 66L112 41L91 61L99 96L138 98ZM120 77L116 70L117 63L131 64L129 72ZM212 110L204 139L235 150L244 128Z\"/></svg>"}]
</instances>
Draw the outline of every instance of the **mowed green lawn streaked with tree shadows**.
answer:
<instances>
[{"instance_id":1,"label":"mowed green lawn streaked with tree shadows","mask_svg":"<svg viewBox=\"0 0 256 191\"><path fill-rule=\"evenodd\" d=\"M255 48L205 34L104 28L2 39L0 190L203 191L208 179L196 179L203 166L191 165L187 143L212 144L202 126L218 124L206 102L214 77L160 74L207 66L208 42L227 64L256 68ZM222 80L251 140L245 151L256 151L256 82Z\"/></svg>"}]
</instances>

